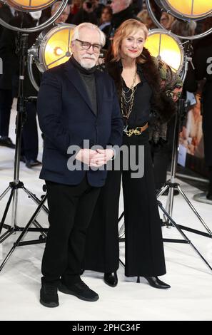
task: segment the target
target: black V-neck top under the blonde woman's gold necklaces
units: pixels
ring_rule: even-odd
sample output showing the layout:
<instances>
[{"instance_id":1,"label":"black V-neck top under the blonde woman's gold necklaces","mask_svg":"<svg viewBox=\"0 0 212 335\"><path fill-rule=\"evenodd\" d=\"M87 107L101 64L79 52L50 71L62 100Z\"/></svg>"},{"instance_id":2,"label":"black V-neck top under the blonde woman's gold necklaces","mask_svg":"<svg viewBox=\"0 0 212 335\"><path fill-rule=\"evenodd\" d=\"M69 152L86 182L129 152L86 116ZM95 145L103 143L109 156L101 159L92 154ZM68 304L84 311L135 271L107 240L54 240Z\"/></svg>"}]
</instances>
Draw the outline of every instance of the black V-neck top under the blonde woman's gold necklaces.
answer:
<instances>
[{"instance_id":1,"label":"black V-neck top under the blonde woman's gold necklaces","mask_svg":"<svg viewBox=\"0 0 212 335\"><path fill-rule=\"evenodd\" d=\"M151 96L152 89L148 85L146 78L143 76L142 66L138 65L137 73L141 78L141 83L138 83L135 87L135 98L133 102L133 108L131 111L131 115L128 118L128 126L129 128L136 128L146 124L149 120L150 112L151 112ZM123 90L126 93L127 98L131 95L131 90L126 86L125 81L123 81ZM128 105L127 108L128 110ZM123 118L124 123L126 124L126 118Z\"/></svg>"}]
</instances>

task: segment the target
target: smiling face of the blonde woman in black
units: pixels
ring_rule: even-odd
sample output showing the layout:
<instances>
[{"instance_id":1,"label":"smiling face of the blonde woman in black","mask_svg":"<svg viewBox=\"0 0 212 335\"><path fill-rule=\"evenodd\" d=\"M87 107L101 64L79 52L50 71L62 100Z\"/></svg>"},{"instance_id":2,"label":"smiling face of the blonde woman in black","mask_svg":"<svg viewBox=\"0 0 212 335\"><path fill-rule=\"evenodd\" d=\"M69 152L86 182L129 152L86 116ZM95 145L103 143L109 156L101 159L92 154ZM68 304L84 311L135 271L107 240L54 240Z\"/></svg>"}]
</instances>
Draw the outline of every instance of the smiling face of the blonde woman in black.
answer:
<instances>
[{"instance_id":1,"label":"smiling face of the blonde woman in black","mask_svg":"<svg viewBox=\"0 0 212 335\"><path fill-rule=\"evenodd\" d=\"M143 30L134 31L121 42L121 58L137 58L143 51L145 35Z\"/></svg>"}]
</instances>

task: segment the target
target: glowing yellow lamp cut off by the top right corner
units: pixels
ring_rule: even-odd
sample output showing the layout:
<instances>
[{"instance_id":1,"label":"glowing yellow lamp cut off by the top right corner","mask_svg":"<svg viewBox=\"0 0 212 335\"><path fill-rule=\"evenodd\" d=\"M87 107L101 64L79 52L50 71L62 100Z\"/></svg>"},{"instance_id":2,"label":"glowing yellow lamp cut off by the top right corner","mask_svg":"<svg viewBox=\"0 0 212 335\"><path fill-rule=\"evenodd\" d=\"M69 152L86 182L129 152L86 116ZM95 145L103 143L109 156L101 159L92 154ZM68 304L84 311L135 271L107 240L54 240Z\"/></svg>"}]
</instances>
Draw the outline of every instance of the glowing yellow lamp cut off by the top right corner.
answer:
<instances>
[{"instance_id":1,"label":"glowing yellow lamp cut off by the top right corner","mask_svg":"<svg viewBox=\"0 0 212 335\"><path fill-rule=\"evenodd\" d=\"M212 14L212 0L161 0L161 4L178 19L201 20Z\"/></svg>"}]
</instances>

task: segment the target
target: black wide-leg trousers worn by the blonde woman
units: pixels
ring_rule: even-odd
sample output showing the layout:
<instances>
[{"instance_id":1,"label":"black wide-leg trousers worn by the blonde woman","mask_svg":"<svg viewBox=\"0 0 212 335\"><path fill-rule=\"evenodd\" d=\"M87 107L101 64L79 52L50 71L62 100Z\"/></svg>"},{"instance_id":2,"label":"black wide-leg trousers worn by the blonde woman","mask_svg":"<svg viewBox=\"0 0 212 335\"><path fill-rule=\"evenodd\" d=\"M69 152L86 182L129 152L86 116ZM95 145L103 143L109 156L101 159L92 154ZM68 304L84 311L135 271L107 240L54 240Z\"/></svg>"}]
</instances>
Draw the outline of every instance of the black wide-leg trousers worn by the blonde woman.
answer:
<instances>
[{"instance_id":1,"label":"black wide-leg trousers worn by the blonde woman","mask_svg":"<svg viewBox=\"0 0 212 335\"><path fill-rule=\"evenodd\" d=\"M153 180L148 130L139 136L123 137L123 145L144 147L144 175L133 179L131 170L122 173L125 222L125 274L159 276L166 273L161 222ZM138 162L137 162L138 163ZM133 171L135 172L135 171ZM84 269L113 272L118 269L118 197L121 172L111 171L91 219L86 239ZM99 209L97 209L99 208ZM100 208L103 208L101 212ZM99 229L96 230L96 227Z\"/></svg>"}]
</instances>

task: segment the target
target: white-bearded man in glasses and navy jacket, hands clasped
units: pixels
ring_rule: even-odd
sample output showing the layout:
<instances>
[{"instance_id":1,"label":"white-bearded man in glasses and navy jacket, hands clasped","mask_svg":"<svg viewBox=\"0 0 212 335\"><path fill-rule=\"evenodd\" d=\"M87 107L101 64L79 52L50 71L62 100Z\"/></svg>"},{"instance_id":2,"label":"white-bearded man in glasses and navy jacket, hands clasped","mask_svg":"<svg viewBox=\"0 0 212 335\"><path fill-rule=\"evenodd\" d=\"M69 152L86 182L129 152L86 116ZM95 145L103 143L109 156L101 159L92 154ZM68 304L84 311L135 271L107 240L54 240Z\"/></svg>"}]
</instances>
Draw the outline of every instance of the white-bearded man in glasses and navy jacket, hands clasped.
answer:
<instances>
[{"instance_id":1,"label":"white-bearded man in glasses and navy jacket, hands clasped","mask_svg":"<svg viewBox=\"0 0 212 335\"><path fill-rule=\"evenodd\" d=\"M86 231L106 180L104 165L113 158L113 145L121 145L123 129L114 83L96 70L104 43L97 26L77 26L70 60L46 71L39 91L39 123L45 135L40 177L46 180L50 223L40 302L47 307L59 305L57 289L86 301L99 299L79 274ZM84 140L89 141L86 148ZM82 170L69 167L71 145L79 146L74 157Z\"/></svg>"}]
</instances>

